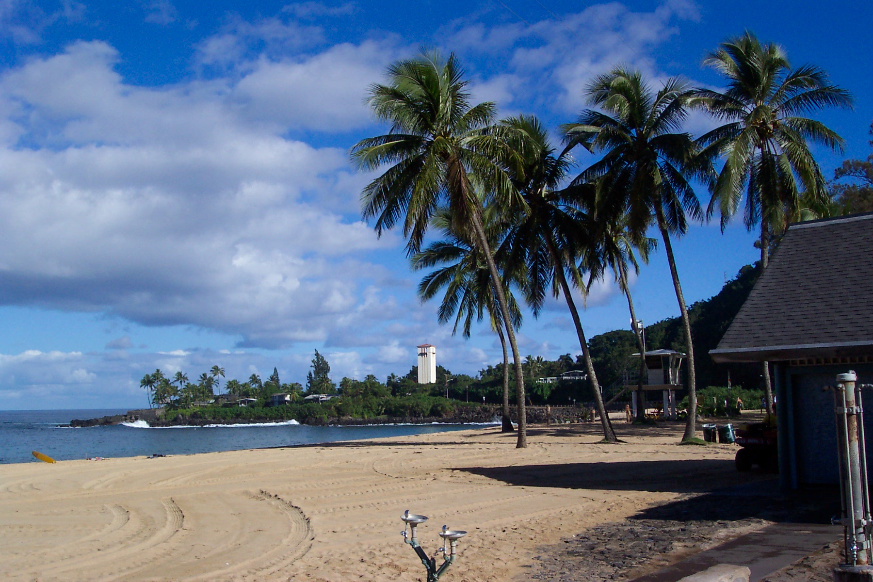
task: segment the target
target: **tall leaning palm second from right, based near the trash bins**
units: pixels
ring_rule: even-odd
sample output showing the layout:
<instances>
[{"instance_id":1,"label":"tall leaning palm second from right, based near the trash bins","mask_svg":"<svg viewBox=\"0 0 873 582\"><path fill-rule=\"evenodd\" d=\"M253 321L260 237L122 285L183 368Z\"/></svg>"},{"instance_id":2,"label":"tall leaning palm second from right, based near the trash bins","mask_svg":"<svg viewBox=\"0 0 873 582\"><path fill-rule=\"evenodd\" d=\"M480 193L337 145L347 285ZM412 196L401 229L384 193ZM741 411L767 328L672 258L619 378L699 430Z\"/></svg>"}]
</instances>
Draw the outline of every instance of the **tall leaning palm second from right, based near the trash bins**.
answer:
<instances>
[{"instance_id":1,"label":"tall leaning palm second from right, based near the trash bins","mask_svg":"<svg viewBox=\"0 0 873 582\"><path fill-rule=\"evenodd\" d=\"M604 152L600 161L573 182L600 182L601 219L627 216L628 228L637 233L645 232L654 222L663 238L688 353L689 406L683 441L695 438L697 391L691 322L670 235L684 235L688 228L686 213L696 220L703 218L689 180L711 178L711 165L698 155L691 135L681 132L689 92L685 82L677 78L667 79L660 90L653 92L640 72L617 67L598 75L588 85L588 102L601 111L583 110L576 123L562 127L567 147L581 144Z\"/></svg>"}]
</instances>

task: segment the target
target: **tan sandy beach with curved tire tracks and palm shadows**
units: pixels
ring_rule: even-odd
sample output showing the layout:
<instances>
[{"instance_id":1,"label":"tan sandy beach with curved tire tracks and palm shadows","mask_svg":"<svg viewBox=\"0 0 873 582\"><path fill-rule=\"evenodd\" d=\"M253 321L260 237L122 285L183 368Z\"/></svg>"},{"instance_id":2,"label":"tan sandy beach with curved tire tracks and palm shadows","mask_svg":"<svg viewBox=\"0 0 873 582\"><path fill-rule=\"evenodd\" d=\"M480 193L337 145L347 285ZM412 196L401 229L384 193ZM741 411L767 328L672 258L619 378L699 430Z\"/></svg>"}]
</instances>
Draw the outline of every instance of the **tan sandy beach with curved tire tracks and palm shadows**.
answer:
<instances>
[{"instance_id":1,"label":"tan sandy beach with curved tire tracks and palm shadows","mask_svg":"<svg viewBox=\"0 0 873 582\"><path fill-rule=\"evenodd\" d=\"M734 445L678 446L682 427L498 428L148 459L0 466L0 578L409 580L400 516L469 531L447 580L523 575L538 547L651 503L760 476Z\"/></svg>"}]
</instances>

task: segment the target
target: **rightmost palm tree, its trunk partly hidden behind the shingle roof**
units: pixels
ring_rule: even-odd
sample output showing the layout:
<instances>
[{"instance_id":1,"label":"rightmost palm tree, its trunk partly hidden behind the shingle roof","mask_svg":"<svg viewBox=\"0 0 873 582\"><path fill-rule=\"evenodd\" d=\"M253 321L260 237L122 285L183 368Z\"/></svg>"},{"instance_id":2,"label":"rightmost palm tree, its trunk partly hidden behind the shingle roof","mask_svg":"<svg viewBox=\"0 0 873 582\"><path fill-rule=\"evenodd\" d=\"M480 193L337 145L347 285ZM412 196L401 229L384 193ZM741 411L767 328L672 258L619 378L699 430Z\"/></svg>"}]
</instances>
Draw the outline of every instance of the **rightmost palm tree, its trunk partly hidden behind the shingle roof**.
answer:
<instances>
[{"instance_id":1,"label":"rightmost palm tree, its trunk partly hidden behind the shingle roof","mask_svg":"<svg viewBox=\"0 0 873 582\"><path fill-rule=\"evenodd\" d=\"M749 231L760 225L763 270L773 233L800 218L803 207L827 207L830 202L809 142L842 152L839 135L799 115L829 106L850 107L852 98L845 89L831 85L828 74L817 66L792 69L779 45L761 45L750 31L719 45L704 64L727 81L725 92L699 89L693 102L725 121L698 140L709 154L725 159L711 188L707 216L718 208L724 230L745 197L743 223ZM770 366L767 362L762 366L770 414Z\"/></svg>"}]
</instances>

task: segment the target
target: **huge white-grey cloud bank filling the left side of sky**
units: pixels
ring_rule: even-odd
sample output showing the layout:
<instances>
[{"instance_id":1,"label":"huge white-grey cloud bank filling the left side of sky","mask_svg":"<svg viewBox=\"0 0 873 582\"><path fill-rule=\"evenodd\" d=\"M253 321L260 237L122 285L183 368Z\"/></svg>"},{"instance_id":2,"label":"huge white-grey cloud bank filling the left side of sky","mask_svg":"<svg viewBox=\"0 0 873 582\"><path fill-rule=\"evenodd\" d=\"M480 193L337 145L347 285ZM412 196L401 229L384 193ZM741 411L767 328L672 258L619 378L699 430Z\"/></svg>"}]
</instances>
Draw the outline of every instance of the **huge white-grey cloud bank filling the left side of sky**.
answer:
<instances>
[{"instance_id":1,"label":"huge white-grey cloud bank filling the left side of sky","mask_svg":"<svg viewBox=\"0 0 873 582\"><path fill-rule=\"evenodd\" d=\"M281 137L280 115L252 123L217 83L127 86L118 58L78 43L0 78L15 128L0 147L0 300L202 325L244 346L385 313L379 291L359 295L380 271L361 253L395 238L331 208L357 203L343 151Z\"/></svg>"}]
</instances>

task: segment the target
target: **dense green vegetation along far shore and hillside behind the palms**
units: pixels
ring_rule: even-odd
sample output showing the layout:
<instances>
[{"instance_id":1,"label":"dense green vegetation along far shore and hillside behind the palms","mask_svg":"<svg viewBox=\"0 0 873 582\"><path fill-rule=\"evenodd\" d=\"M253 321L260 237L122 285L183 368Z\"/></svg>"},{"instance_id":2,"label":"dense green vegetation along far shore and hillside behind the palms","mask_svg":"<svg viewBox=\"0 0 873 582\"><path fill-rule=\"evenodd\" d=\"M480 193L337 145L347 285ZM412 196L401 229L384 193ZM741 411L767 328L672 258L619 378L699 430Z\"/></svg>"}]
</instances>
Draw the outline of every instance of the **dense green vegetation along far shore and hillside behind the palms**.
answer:
<instances>
[{"instance_id":1,"label":"dense green vegetation along far shore and hillside behind the palms","mask_svg":"<svg viewBox=\"0 0 873 582\"><path fill-rule=\"evenodd\" d=\"M737 277L728 281L715 297L699 301L691 305L692 329L695 331L695 341L698 342L698 353L703 354L698 362L700 378L709 383L726 383L727 373L731 372L733 392L729 394L732 402L740 395L744 401L760 401L761 380L756 366L716 366L706 353L718 343L721 335L730 325L732 318L739 311L751 291L759 270L748 265L739 270ZM680 349L682 333L678 318L664 319L645 329L648 349L670 348ZM595 369L605 384L607 399L618 394L625 379L625 373L636 369L636 339L633 332L614 331L594 336L589 342L589 350L595 363ZM578 370L581 367L581 356L575 358L567 353L555 360L543 359L541 356L527 356L522 369L525 371L526 383L531 389L526 398L529 404L567 405L588 404L593 401L590 384L586 380L541 382L540 378L555 378L560 373ZM299 383L282 383L278 372L274 369L270 378L261 382L253 374L250 380L239 382L228 380L224 384L224 394L214 394L212 390L220 391L220 368L214 366L211 373L203 373L202 382L173 390L167 386L169 380L160 370L148 374L148 382L144 379L143 386L155 384L158 380L156 394L175 394L165 404L168 406L168 421L173 419L202 418L216 421L285 421L324 422L329 419L352 417L372 419L380 416L402 418L442 418L454 413L458 407L476 406L478 403L497 404L501 401L503 390L503 366L487 366L475 376L468 374L452 374L443 366L437 366L436 383L421 385L417 382L417 368L414 366L403 376L390 374L385 382L367 376L364 380L343 378L339 385L330 379L330 364L320 353L313 358L312 369L308 374L307 388ZM510 368L509 373L514 371ZM178 375L178 374L177 374ZM182 378L185 374L182 373ZM211 380L210 380L211 379ZM190 384L190 383L188 383ZM162 387L163 386L163 387ZM512 386L512 385L511 385ZM749 393L748 390L758 392ZM701 391L698 401L702 403L703 414L711 414L709 405L712 396L724 400L721 393L713 390L721 388L706 388ZM726 390L724 388L723 390ZM745 390L745 391L744 391ZM168 391L168 392L166 392ZM192 407L183 394L201 394L204 399L214 401L210 406ZM738 392L743 391L743 392ZM291 394L292 402L283 406L271 407L272 394ZM712 393L712 394L711 394ZM735 394L736 393L736 394ZM303 402L305 394L338 394L336 398L323 403ZM752 394L752 395L750 395ZM759 394L759 395L755 395ZM514 397L514 394L512 394ZM155 396L160 397L160 396ZM254 398L248 407L239 407L237 398ZM627 401L627 396L620 398L620 406ZM204 401L205 403L205 401ZM722 414L722 411L718 411Z\"/></svg>"}]
</instances>

